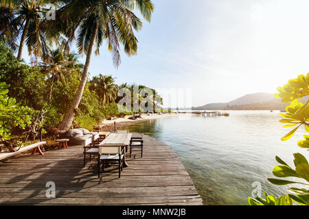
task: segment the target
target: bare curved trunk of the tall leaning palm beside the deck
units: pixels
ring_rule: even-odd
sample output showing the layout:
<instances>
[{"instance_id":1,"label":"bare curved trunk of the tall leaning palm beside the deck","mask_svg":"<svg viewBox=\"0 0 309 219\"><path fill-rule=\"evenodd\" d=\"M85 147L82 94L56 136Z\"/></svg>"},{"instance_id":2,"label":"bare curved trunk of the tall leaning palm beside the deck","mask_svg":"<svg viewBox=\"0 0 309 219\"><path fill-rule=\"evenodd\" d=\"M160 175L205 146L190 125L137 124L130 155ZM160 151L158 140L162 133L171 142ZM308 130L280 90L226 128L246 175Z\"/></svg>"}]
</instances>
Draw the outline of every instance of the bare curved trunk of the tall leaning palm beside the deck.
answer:
<instances>
[{"instance_id":1,"label":"bare curved trunk of the tall leaning palm beside the deck","mask_svg":"<svg viewBox=\"0 0 309 219\"><path fill-rule=\"evenodd\" d=\"M65 131L68 131L69 128L71 127L73 123L74 116L76 112L78 111L78 105L80 105L80 100L82 99L82 94L84 92L84 86L86 86L87 80L88 80L88 71L89 71L89 66L90 66L90 60L91 60L91 55L93 51L93 47L95 44L95 38L97 37L98 34L98 21L95 23L95 28L93 29L93 33L91 36L91 41L89 44L89 49L87 51L87 58L86 62L84 64L84 71L82 73L82 79L80 80L80 86L78 87L78 92L76 93L73 103L71 107L69 108L67 114L65 115L65 118L63 118L62 122L58 125L58 129L60 133L64 133Z\"/></svg>"}]
</instances>

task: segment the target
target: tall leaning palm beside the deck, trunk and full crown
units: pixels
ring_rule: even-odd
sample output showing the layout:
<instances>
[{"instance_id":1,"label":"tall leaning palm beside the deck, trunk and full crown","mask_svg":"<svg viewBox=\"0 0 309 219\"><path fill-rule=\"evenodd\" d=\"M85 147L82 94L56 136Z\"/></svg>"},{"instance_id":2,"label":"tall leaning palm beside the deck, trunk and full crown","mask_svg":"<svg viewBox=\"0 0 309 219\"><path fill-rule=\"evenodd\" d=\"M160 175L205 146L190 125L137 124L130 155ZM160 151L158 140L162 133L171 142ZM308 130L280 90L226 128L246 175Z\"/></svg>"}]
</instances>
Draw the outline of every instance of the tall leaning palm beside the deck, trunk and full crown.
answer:
<instances>
[{"instance_id":1,"label":"tall leaning palm beside the deck, trunk and full crown","mask_svg":"<svg viewBox=\"0 0 309 219\"><path fill-rule=\"evenodd\" d=\"M154 10L150 0L64 0L62 19L71 27L78 28L78 52L86 53L80 86L65 118L58 125L60 132L67 131L78 111L84 86L87 83L91 55L99 54L100 45L107 41L108 50L113 53L115 66L120 64L119 43L124 44L127 55L137 53L135 31L142 27L141 20L132 12L137 8L146 21L150 22ZM74 31L72 31L73 33Z\"/></svg>"}]
</instances>

